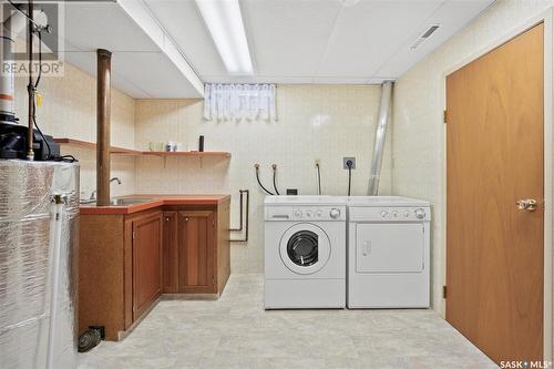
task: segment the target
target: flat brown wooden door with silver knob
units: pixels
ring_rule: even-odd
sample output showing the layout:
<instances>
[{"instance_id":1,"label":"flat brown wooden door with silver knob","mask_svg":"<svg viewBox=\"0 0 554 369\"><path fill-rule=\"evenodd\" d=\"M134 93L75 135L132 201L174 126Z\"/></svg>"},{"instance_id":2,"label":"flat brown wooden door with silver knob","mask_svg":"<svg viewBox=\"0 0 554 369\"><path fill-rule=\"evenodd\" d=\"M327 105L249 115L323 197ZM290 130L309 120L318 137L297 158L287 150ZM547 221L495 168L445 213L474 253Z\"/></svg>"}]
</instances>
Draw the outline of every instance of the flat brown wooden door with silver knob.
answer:
<instances>
[{"instance_id":1,"label":"flat brown wooden door with silver knob","mask_svg":"<svg viewBox=\"0 0 554 369\"><path fill-rule=\"evenodd\" d=\"M543 359L543 45L540 24L447 78L447 320L497 363Z\"/></svg>"}]
</instances>

